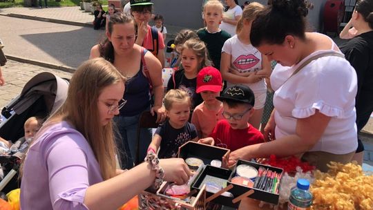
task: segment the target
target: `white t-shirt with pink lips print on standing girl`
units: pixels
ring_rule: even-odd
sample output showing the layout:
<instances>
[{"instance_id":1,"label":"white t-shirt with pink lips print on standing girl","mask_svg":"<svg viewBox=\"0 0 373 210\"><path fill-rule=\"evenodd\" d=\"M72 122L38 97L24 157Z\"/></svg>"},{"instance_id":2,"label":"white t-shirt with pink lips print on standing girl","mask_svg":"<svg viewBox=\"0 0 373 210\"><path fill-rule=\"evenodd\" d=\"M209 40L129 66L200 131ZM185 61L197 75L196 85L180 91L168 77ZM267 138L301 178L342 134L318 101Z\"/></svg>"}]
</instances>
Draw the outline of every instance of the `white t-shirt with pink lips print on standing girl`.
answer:
<instances>
[{"instance_id":1,"label":"white t-shirt with pink lips print on standing girl","mask_svg":"<svg viewBox=\"0 0 373 210\"><path fill-rule=\"evenodd\" d=\"M262 69L262 54L251 44L243 44L237 35L227 39L222 47L222 53L231 55L231 66L234 66L240 73L254 72ZM233 86L227 82L227 86ZM253 90L254 94L266 93L267 85L262 79L256 83L245 84Z\"/></svg>"}]
</instances>

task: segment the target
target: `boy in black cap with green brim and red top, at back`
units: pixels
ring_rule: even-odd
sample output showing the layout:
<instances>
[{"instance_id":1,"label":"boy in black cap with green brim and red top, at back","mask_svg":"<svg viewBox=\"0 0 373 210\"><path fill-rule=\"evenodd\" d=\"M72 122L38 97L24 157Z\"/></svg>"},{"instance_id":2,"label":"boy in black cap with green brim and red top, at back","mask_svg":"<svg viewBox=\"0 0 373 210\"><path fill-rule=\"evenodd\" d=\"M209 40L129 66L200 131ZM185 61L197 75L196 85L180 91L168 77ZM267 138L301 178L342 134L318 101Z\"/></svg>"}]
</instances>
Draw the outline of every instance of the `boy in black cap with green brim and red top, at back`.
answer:
<instances>
[{"instance_id":1,"label":"boy in black cap with green brim and red top, at back","mask_svg":"<svg viewBox=\"0 0 373 210\"><path fill-rule=\"evenodd\" d=\"M136 41L135 44L143 46L151 51L164 66L164 40L158 30L152 31L148 22L151 19L153 3L151 0L130 0L131 14L135 19Z\"/></svg>"}]
</instances>

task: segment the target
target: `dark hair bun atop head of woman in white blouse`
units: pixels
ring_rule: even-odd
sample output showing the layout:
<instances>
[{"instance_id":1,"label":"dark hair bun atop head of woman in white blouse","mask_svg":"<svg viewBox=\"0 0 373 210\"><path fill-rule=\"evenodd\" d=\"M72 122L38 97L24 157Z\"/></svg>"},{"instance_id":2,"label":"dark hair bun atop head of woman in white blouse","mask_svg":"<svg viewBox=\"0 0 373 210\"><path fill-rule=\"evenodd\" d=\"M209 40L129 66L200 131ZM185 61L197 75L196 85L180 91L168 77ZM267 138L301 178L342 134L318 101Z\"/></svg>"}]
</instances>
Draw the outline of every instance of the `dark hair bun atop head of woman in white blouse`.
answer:
<instances>
[{"instance_id":1,"label":"dark hair bun atop head of woman in white blouse","mask_svg":"<svg viewBox=\"0 0 373 210\"><path fill-rule=\"evenodd\" d=\"M274 0L272 8L289 17L306 17L308 5L307 0Z\"/></svg>"}]
</instances>

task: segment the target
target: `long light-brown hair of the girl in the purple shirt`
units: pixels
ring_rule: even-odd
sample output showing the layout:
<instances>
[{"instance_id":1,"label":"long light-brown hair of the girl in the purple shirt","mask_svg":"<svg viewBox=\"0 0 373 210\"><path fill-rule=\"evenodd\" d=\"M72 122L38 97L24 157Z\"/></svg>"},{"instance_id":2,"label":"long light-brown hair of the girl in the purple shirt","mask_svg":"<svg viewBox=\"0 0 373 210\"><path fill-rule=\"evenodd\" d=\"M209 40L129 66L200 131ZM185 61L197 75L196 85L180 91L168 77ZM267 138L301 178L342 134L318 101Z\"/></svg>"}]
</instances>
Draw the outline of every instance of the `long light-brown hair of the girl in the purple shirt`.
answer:
<instances>
[{"instance_id":1,"label":"long light-brown hair of the girl in the purple shirt","mask_svg":"<svg viewBox=\"0 0 373 210\"><path fill-rule=\"evenodd\" d=\"M85 61L70 80L66 101L38 133L40 136L52 124L69 122L86 138L104 180L115 176L116 146L112 122L100 124L97 100L104 88L119 82L126 82L126 78L102 57Z\"/></svg>"}]
</instances>

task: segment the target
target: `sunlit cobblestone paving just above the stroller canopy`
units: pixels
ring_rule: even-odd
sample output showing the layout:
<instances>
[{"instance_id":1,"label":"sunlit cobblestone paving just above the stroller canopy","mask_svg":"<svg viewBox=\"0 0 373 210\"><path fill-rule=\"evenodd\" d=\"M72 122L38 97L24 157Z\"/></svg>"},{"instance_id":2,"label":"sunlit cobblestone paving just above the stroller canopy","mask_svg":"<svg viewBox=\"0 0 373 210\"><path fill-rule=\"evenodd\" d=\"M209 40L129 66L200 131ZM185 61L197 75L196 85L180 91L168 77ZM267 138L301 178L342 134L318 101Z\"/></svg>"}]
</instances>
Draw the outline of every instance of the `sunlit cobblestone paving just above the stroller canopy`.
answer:
<instances>
[{"instance_id":1,"label":"sunlit cobblestone paving just above the stroller canopy","mask_svg":"<svg viewBox=\"0 0 373 210\"><path fill-rule=\"evenodd\" d=\"M61 70L23 64L17 61L8 60L6 66L1 66L1 72L6 80L4 86L0 86L0 108L6 106L14 97L21 93L23 86L35 75L49 72L59 77L71 78L71 73Z\"/></svg>"}]
</instances>

